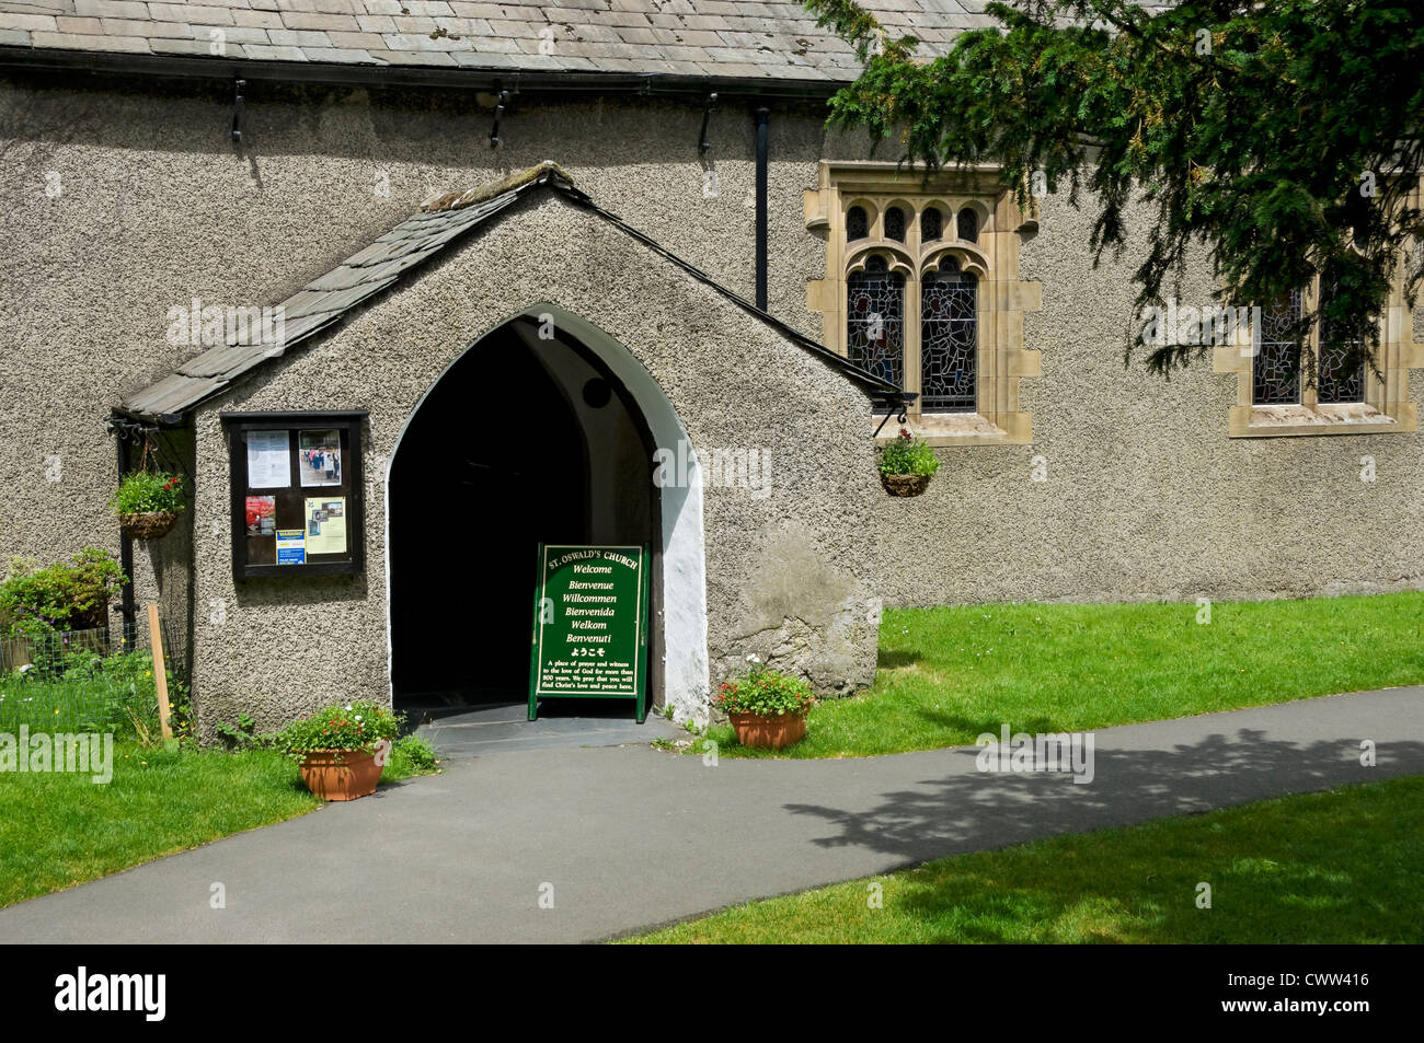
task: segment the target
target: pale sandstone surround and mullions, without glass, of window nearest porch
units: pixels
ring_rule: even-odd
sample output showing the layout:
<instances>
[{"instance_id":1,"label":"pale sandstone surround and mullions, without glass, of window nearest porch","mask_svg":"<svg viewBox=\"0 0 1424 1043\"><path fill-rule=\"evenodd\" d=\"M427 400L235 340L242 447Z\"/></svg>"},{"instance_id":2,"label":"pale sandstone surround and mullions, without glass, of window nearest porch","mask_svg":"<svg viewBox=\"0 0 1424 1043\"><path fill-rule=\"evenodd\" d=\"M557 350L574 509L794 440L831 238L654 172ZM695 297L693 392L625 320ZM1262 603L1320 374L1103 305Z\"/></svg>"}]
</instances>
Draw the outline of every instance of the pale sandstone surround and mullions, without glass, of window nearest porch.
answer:
<instances>
[{"instance_id":1,"label":"pale sandstone surround and mullions, without glass, of window nearest porch","mask_svg":"<svg viewBox=\"0 0 1424 1043\"><path fill-rule=\"evenodd\" d=\"M823 343L846 354L847 276L879 253L890 269L906 276L904 371L907 390L920 387L920 276L954 256L978 277L975 326L978 333L978 410L975 413L920 413L911 407L906 424L931 445L1027 445L1032 441L1030 414L1021 411L1018 381L1041 374L1038 351L1024 349L1024 312L1037 312L1042 287L1018 279L1020 236L1037 231L1025 221L997 168L944 171L928 185L923 176L896 164L822 161L817 188L805 194L806 228L826 239L826 277L806 285L806 306L820 312ZM920 242L920 212L937 206L943 218L940 239ZM846 213L864 206L870 235L846 242ZM907 211L904 242L883 238L883 215L890 206ZM964 206L978 213L977 240L956 238L956 216ZM874 418L871 430L879 425ZM887 424L880 440L896 437Z\"/></svg>"}]
</instances>

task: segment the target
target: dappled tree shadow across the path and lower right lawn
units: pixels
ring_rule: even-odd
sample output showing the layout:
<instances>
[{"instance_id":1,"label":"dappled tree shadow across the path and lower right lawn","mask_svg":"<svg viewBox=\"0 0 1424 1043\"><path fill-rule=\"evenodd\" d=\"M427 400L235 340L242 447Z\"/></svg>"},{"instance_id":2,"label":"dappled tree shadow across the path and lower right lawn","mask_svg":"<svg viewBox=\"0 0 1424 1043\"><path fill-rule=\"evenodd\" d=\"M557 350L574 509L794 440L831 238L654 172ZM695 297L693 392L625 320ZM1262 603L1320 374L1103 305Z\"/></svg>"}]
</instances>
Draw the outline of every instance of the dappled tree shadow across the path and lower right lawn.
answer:
<instances>
[{"instance_id":1,"label":"dappled tree shadow across the path and lower right lawn","mask_svg":"<svg viewBox=\"0 0 1424 1043\"><path fill-rule=\"evenodd\" d=\"M1111 840L1064 834L1424 774L1424 743L1380 741L1378 767L1367 768L1357 740L1300 744L1240 729L1169 750L1099 748L1087 784L1071 774L981 773L977 753L938 751L943 777L881 794L869 811L786 807L833 827L820 847L863 847L906 865L1062 837L1048 852L1004 852L993 865L910 878L901 908L933 922L943 941L1418 941L1405 906L1424 859L1381 865L1381 834L1356 837L1350 821L1312 834L1283 808L1242 827L1246 845L1240 832L1216 837L1205 824ZM1215 919L1198 915L1200 881L1227 909Z\"/></svg>"}]
</instances>

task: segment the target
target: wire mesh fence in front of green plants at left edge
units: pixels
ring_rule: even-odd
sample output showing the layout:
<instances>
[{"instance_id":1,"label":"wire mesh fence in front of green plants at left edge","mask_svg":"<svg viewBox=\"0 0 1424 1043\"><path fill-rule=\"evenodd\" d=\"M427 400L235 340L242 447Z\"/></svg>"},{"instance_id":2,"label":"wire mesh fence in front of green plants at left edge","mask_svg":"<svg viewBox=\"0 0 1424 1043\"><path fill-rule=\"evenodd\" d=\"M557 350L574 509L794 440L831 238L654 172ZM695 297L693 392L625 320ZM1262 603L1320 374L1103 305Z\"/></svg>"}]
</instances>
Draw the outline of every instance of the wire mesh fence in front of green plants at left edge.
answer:
<instances>
[{"instance_id":1,"label":"wire mesh fence in front of green plants at left edge","mask_svg":"<svg viewBox=\"0 0 1424 1043\"><path fill-rule=\"evenodd\" d=\"M181 717L188 650L179 628L159 623L168 701ZM0 637L0 733L159 734L158 683L147 619L95 630Z\"/></svg>"}]
</instances>

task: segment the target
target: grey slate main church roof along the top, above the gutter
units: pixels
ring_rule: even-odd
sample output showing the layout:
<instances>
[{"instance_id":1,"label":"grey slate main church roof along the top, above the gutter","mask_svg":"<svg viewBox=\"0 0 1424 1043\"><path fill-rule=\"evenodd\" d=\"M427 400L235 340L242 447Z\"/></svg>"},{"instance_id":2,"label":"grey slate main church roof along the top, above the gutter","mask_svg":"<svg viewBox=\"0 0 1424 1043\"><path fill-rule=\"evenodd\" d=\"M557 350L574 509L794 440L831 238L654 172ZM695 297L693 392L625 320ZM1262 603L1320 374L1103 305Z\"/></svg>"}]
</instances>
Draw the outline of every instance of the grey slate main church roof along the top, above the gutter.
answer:
<instances>
[{"instance_id":1,"label":"grey slate main church roof along the top, above the gutter","mask_svg":"<svg viewBox=\"0 0 1424 1043\"><path fill-rule=\"evenodd\" d=\"M987 1L864 7L934 55L997 24ZM842 83L860 70L805 7L760 0L0 0L0 48L753 81Z\"/></svg>"}]
</instances>

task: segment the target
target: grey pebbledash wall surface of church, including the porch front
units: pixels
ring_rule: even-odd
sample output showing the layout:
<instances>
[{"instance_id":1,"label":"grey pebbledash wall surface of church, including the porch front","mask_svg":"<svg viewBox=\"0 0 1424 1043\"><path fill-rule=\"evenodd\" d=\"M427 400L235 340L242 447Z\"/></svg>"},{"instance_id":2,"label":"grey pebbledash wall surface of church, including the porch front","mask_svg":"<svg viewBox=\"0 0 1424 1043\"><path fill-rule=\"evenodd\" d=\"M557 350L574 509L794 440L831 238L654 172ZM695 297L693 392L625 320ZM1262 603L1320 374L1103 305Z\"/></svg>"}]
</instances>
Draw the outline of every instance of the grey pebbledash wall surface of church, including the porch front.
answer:
<instances>
[{"instance_id":1,"label":"grey pebbledash wall surface of church, including the porch front","mask_svg":"<svg viewBox=\"0 0 1424 1043\"><path fill-rule=\"evenodd\" d=\"M195 353L165 342L171 306L276 303L436 191L554 159L632 226L725 286L753 289L745 108L712 117L703 162L702 108L659 100L528 98L506 117L498 152L486 144L491 114L468 92L263 84L248 98L241 149L228 139L226 87L16 75L0 81L0 104L4 134L23 145L0 155L7 554L117 549L105 509L114 447L103 423L120 394ZM769 310L820 339L806 285L826 276L826 245L806 231L803 191L817 185L820 161L869 152L829 135L823 110L773 102L769 154ZM914 185L907 178L907 191ZM864 620L877 598L1119 600L1424 585L1420 435L1230 438L1235 374L1206 360L1166 383L1141 361L1124 367L1136 252L1094 269L1089 222L1091 211L1049 196L1038 233L1021 245L1020 276L1042 287L1041 310L1024 316L1024 344L1042 363L1020 387L1031 443L943 448L930 491L893 499L874 485L869 407L844 380L614 229L553 199L531 205L201 411L195 524L137 548L140 599L162 596L172 612L192 605L195 694L214 707L205 713L244 701L290 716L303 709L293 690L337 676L384 694L380 497L367 489L367 539L377 542L365 576L235 591L216 411L365 407L369 451L389 452L444 364L544 297L622 342L695 440L775 447L773 497L735 507L708 497L708 529L722 532L706 563L712 683L749 645L796 645L787 628L800 582L847 606L844 618L817 623L849 628L846 655L806 660L832 690L869 680ZM1206 270L1195 269L1178 296L1206 300L1209 289ZM1415 373L1410 400L1421 396ZM1366 457L1373 481L1361 481ZM179 563L189 538L191 576ZM208 602L224 598L219 632ZM313 649L299 669L273 673L275 633L318 620L325 629L333 618L360 635L339 670Z\"/></svg>"}]
</instances>

